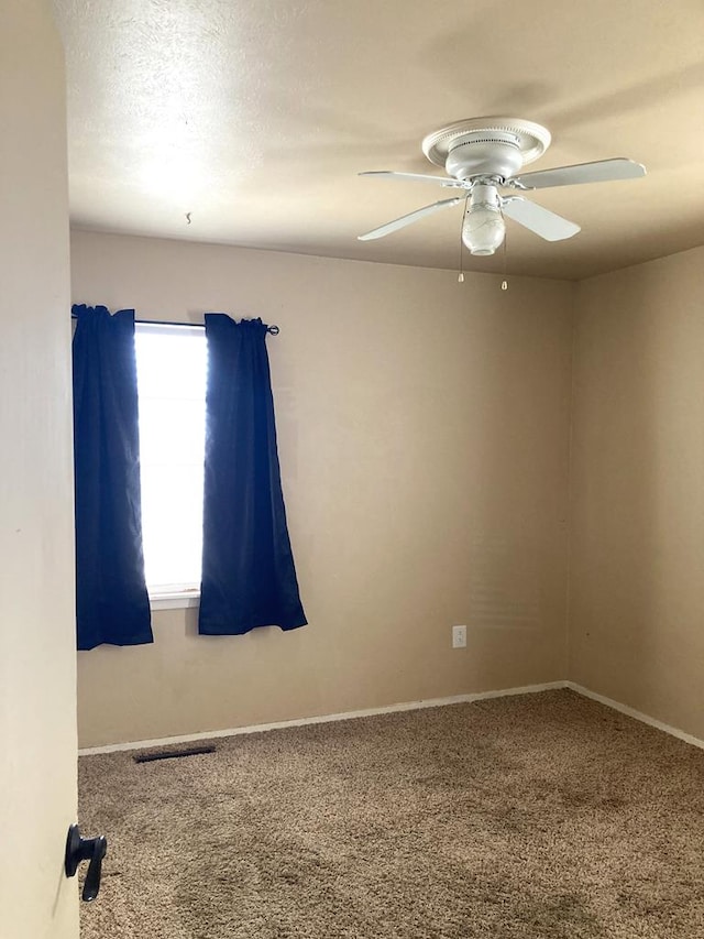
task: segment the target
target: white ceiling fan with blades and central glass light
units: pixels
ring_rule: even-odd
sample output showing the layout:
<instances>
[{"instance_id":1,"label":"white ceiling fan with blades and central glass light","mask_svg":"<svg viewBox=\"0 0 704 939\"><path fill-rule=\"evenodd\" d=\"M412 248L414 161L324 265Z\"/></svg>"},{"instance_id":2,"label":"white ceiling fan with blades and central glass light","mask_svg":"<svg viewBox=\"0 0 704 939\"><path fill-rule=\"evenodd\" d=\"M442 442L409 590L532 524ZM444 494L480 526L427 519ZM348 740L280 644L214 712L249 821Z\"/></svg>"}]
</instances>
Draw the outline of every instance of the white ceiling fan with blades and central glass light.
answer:
<instances>
[{"instance_id":1,"label":"white ceiling fan with blades and central glass light","mask_svg":"<svg viewBox=\"0 0 704 939\"><path fill-rule=\"evenodd\" d=\"M575 183L605 183L646 175L646 167L632 160L617 157L557 166L537 173L520 173L550 146L550 132L532 121L517 118L472 118L435 131L422 141L422 152L431 163L443 166L447 176L422 173L395 173L380 170L360 173L389 179L436 183L460 192L408 215L360 234L360 241L383 238L426 216L465 203L462 241L472 254L493 254L504 241L504 218L510 218L546 241L562 241L580 231L580 226L514 193L571 186Z\"/></svg>"}]
</instances>

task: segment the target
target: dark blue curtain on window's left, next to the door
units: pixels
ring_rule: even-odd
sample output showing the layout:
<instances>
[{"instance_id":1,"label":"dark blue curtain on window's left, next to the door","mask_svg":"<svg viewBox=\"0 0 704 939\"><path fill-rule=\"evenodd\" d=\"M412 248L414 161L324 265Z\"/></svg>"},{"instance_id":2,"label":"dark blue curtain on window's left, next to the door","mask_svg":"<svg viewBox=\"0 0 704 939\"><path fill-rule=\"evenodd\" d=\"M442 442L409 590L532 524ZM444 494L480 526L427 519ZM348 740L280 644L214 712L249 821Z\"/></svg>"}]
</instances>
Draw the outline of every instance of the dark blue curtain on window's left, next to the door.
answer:
<instances>
[{"instance_id":1,"label":"dark blue curtain on window's left, next to the door","mask_svg":"<svg viewBox=\"0 0 704 939\"><path fill-rule=\"evenodd\" d=\"M73 314L78 648L150 643L134 310L76 305Z\"/></svg>"}]
</instances>

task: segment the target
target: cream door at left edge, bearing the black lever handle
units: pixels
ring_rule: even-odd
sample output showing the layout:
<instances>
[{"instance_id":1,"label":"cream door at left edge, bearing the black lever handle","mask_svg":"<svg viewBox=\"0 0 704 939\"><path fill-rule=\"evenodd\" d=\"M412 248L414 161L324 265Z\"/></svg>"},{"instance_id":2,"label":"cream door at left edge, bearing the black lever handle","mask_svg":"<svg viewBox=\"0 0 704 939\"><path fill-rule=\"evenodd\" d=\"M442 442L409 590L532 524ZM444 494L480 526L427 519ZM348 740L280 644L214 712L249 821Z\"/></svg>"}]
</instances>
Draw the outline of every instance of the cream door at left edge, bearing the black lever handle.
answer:
<instances>
[{"instance_id":1,"label":"cream door at left edge, bearing the black lever handle","mask_svg":"<svg viewBox=\"0 0 704 939\"><path fill-rule=\"evenodd\" d=\"M78 937L64 64L51 4L0 13L0 936Z\"/></svg>"}]
</instances>

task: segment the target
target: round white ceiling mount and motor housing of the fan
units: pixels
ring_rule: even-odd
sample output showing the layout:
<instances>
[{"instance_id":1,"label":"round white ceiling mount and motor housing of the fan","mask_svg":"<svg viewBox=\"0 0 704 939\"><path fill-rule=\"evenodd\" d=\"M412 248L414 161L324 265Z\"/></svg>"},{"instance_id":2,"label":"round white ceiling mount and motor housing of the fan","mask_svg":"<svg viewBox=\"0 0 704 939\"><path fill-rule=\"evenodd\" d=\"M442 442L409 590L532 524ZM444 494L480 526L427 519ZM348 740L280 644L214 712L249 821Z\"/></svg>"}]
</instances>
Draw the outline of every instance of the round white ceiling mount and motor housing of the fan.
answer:
<instances>
[{"instance_id":1,"label":"round white ceiling mount and motor housing of the fan","mask_svg":"<svg viewBox=\"0 0 704 939\"><path fill-rule=\"evenodd\" d=\"M471 118L428 134L422 152L462 182L472 176L508 179L550 146L550 131L519 118Z\"/></svg>"}]
</instances>

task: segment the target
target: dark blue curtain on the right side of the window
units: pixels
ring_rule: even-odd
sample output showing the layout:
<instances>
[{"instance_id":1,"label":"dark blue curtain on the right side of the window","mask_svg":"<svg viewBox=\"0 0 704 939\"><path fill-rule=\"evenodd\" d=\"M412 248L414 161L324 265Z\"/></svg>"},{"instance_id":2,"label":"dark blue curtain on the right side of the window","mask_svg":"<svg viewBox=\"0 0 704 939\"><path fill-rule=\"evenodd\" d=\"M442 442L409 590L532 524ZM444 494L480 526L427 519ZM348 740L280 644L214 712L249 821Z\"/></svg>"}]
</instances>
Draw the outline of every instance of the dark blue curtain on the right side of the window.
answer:
<instances>
[{"instance_id":1,"label":"dark blue curtain on the right side of the window","mask_svg":"<svg viewBox=\"0 0 704 939\"><path fill-rule=\"evenodd\" d=\"M208 387L199 632L306 625L282 492L267 327L206 314Z\"/></svg>"}]
</instances>

